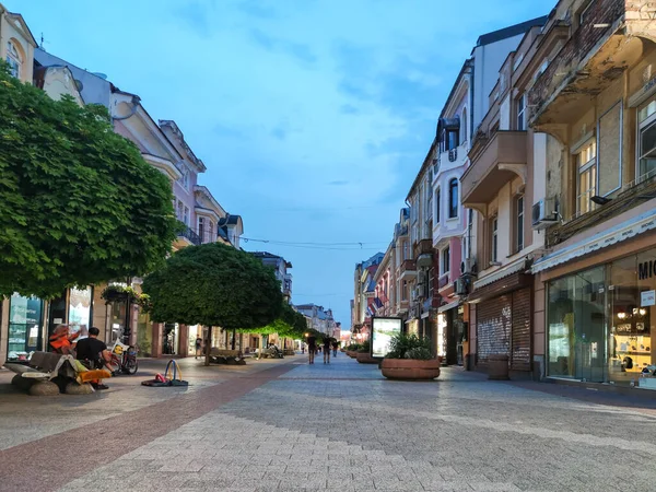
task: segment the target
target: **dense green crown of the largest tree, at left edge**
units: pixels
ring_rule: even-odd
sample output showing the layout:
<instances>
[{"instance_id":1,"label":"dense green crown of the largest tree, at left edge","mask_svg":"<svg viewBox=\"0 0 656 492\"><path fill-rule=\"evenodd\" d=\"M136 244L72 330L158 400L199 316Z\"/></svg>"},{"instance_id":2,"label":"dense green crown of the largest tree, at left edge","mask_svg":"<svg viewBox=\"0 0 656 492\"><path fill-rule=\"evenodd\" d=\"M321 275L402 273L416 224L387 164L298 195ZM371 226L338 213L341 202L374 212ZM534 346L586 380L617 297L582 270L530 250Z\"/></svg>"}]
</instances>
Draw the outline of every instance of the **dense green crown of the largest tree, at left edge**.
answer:
<instances>
[{"instance_id":1,"label":"dense green crown of the largest tree, at left edge","mask_svg":"<svg viewBox=\"0 0 656 492\"><path fill-rule=\"evenodd\" d=\"M172 199L106 108L54 101L0 65L0 297L153 270L176 236Z\"/></svg>"}]
</instances>

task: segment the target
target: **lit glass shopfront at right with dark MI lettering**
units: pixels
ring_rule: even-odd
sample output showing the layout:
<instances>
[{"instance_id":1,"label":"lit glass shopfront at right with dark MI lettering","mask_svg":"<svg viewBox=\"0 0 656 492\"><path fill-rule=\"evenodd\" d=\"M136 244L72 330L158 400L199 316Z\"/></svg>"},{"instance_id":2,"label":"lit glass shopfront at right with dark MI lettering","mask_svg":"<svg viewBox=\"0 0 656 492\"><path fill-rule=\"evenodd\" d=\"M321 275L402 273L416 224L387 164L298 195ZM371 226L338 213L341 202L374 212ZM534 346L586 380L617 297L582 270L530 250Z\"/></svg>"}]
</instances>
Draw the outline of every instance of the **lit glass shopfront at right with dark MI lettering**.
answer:
<instances>
[{"instance_id":1,"label":"lit glass shopfront at right with dark MI lettering","mask_svg":"<svg viewBox=\"0 0 656 492\"><path fill-rule=\"evenodd\" d=\"M649 386L642 376L656 372L655 293L656 248L550 280L547 374Z\"/></svg>"}]
</instances>

